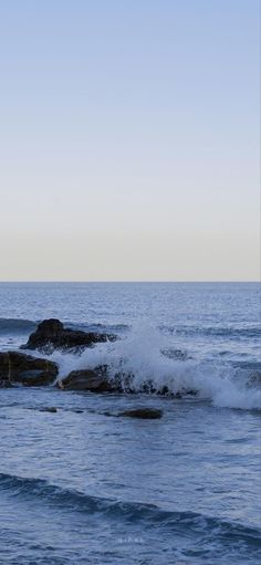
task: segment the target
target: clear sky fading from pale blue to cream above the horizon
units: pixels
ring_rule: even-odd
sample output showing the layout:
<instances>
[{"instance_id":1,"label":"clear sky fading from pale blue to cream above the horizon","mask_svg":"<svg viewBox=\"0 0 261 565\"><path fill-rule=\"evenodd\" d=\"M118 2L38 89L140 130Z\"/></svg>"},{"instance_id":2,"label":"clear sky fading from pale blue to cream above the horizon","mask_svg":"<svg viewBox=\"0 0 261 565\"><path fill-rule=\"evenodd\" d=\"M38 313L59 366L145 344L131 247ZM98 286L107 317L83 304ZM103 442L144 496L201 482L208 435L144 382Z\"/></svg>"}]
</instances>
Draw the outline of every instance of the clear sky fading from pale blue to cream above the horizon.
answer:
<instances>
[{"instance_id":1,"label":"clear sky fading from pale blue to cream above the horizon","mask_svg":"<svg viewBox=\"0 0 261 565\"><path fill-rule=\"evenodd\" d=\"M252 281L259 0L0 0L0 280Z\"/></svg>"}]
</instances>

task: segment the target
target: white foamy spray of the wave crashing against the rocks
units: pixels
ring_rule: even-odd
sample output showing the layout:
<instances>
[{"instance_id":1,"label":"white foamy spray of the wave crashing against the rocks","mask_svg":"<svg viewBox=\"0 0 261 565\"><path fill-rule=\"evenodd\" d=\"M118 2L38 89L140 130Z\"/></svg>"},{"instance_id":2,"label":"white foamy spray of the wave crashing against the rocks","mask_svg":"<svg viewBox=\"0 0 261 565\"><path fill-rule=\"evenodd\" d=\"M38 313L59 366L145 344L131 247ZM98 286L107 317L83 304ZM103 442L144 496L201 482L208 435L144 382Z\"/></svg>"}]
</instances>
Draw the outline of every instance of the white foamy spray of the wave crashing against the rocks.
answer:
<instances>
[{"instance_id":1,"label":"white foamy spray of the wave crashing against the rocks","mask_svg":"<svg viewBox=\"0 0 261 565\"><path fill-rule=\"evenodd\" d=\"M169 350L170 355L166 355ZM54 352L52 358L59 363L59 378L71 370L105 364L112 378L118 372L133 375L132 388L136 391L149 381L156 390L167 387L174 394L182 388L197 390L197 398L210 400L217 407L261 409L261 387L249 386L247 370L217 357L186 358L184 354L185 358L175 358L175 352L180 357L171 336L139 323L117 342L97 344L81 355Z\"/></svg>"}]
</instances>

